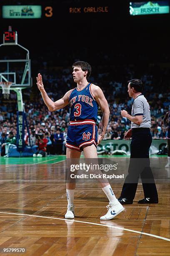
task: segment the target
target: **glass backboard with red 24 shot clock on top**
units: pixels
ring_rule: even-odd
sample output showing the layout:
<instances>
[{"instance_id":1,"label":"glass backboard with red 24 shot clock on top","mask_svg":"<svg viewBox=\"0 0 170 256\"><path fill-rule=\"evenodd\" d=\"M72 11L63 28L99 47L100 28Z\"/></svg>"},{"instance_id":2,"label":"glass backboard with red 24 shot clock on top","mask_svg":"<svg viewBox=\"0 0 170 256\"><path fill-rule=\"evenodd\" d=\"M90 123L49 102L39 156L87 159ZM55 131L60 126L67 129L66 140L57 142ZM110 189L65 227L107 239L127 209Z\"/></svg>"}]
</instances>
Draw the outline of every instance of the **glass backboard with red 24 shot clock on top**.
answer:
<instances>
[{"instance_id":1,"label":"glass backboard with red 24 shot clock on top","mask_svg":"<svg viewBox=\"0 0 170 256\"><path fill-rule=\"evenodd\" d=\"M0 44L0 82L12 82L11 89L32 87L29 51L18 44L17 32L11 31L11 27L4 32L3 44Z\"/></svg>"}]
</instances>

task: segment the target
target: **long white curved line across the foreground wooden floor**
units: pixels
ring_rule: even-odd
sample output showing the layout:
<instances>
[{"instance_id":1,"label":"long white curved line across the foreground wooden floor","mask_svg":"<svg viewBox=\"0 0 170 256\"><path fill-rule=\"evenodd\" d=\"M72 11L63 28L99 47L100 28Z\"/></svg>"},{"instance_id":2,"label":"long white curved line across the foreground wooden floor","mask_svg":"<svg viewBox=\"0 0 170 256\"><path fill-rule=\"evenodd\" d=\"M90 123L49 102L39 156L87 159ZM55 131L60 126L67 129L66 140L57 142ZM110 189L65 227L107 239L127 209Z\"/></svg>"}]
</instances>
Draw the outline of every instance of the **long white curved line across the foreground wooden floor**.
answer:
<instances>
[{"instance_id":1,"label":"long white curved line across the foreground wooden floor","mask_svg":"<svg viewBox=\"0 0 170 256\"><path fill-rule=\"evenodd\" d=\"M85 224L91 224L91 225L96 225L96 226L103 226L103 227L107 227L107 228L115 228L115 229L120 229L120 230L133 232L133 233L138 233L138 234L141 234L141 235L152 236L152 237L159 238L159 239L170 242L169 238L165 238L165 237L162 237L162 236L156 236L156 235L153 235L153 234L140 232L140 231L136 231L136 230L133 230L133 229L120 228L120 227L115 227L115 226L110 226L110 225L99 224L99 223L93 223L93 222L87 222L87 221L81 221L81 220L61 219L61 218L46 217L46 216L39 216L39 215L22 214L22 213L12 213L12 212L0 212L0 213L11 214L11 215L23 215L23 216L38 217L38 218L46 218L46 219L54 219L54 220L67 220L67 221L72 221L72 222L77 222L77 223L85 223Z\"/></svg>"}]
</instances>

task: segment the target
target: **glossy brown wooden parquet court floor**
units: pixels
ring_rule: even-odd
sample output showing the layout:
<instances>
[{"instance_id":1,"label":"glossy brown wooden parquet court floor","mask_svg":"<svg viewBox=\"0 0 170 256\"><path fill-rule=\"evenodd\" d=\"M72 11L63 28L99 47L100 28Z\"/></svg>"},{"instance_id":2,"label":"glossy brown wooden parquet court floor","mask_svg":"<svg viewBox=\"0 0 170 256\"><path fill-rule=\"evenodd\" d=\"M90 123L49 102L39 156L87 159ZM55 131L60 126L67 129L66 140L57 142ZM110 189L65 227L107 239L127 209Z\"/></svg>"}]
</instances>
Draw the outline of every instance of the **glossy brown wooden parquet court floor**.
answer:
<instances>
[{"instance_id":1,"label":"glossy brown wooden parquet court floor","mask_svg":"<svg viewBox=\"0 0 170 256\"><path fill-rule=\"evenodd\" d=\"M167 158L157 161L163 175L170 176ZM26 248L20 253L25 256L170 255L167 180L157 182L159 204L138 205L143 198L139 184L133 205L107 221L100 221L108 201L97 182L80 183L76 217L65 220L65 156L0 158L0 163L0 255L2 248ZM119 197L122 183L112 188Z\"/></svg>"}]
</instances>

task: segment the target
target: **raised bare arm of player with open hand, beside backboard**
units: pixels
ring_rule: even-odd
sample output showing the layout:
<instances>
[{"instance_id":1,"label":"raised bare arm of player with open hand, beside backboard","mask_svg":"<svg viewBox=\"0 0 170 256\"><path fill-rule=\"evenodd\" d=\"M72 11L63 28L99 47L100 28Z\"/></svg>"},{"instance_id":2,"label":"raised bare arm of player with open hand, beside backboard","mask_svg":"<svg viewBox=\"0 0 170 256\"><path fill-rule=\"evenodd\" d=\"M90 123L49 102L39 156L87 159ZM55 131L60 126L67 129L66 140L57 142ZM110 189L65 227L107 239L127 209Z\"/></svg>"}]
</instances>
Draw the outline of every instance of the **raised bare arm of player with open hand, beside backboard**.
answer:
<instances>
[{"instance_id":1,"label":"raised bare arm of player with open hand, beside backboard","mask_svg":"<svg viewBox=\"0 0 170 256\"><path fill-rule=\"evenodd\" d=\"M47 92L44 89L44 85L42 83L42 76L40 73L38 74L38 77L37 77L37 87L41 92L42 99L44 100L48 110L50 111L59 110L60 108L64 108L69 104L69 95L72 90L66 92L66 94L60 100L53 102L50 99L50 97L48 97Z\"/></svg>"}]
</instances>

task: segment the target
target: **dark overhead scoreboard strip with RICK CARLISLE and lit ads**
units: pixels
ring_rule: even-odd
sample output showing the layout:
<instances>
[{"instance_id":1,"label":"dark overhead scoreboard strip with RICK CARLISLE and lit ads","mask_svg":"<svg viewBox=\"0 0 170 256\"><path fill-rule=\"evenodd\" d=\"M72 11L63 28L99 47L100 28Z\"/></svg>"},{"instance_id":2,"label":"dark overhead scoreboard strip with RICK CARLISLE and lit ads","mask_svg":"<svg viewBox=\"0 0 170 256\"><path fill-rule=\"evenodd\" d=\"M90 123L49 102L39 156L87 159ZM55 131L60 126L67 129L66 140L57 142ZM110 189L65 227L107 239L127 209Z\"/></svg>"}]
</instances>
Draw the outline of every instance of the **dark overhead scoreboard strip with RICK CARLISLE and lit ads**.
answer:
<instances>
[{"instance_id":1,"label":"dark overhead scoreboard strip with RICK CARLISLE and lit ads","mask_svg":"<svg viewBox=\"0 0 170 256\"><path fill-rule=\"evenodd\" d=\"M3 3L6 2L3 1ZM31 4L29 1L21 0L20 5L1 3L0 19L13 19L16 22L20 19L56 20L60 22L60 25L66 23L66 20L70 23L71 19L77 18L98 19L99 22L103 19L104 22L110 23L114 23L114 20L121 20L123 23L134 15L159 14L163 16L164 13L169 15L169 2L170 0L35 0L35 4Z\"/></svg>"}]
</instances>

